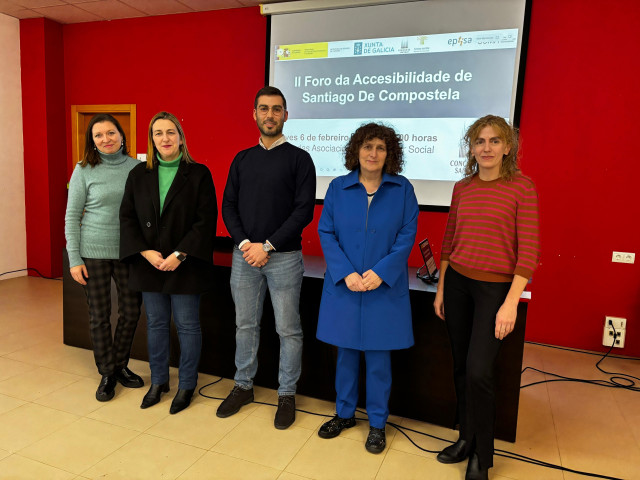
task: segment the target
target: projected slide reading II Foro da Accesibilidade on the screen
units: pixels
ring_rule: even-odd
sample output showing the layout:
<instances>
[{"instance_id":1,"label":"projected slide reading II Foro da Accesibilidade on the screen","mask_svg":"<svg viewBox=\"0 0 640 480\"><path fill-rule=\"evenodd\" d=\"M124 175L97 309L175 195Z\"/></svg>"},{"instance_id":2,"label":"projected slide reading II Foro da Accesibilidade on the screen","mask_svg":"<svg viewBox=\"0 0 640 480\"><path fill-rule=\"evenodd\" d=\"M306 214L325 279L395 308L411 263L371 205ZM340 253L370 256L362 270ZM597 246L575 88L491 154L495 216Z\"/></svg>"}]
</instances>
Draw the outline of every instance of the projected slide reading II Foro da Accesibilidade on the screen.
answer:
<instances>
[{"instance_id":1,"label":"projected slide reading II Foro da Accesibilidade on the screen","mask_svg":"<svg viewBox=\"0 0 640 480\"><path fill-rule=\"evenodd\" d=\"M460 139L478 117L509 118L517 29L277 45L273 84L287 97L289 141L319 176L345 172L343 148L368 121L402 135L403 175L457 181Z\"/></svg>"}]
</instances>

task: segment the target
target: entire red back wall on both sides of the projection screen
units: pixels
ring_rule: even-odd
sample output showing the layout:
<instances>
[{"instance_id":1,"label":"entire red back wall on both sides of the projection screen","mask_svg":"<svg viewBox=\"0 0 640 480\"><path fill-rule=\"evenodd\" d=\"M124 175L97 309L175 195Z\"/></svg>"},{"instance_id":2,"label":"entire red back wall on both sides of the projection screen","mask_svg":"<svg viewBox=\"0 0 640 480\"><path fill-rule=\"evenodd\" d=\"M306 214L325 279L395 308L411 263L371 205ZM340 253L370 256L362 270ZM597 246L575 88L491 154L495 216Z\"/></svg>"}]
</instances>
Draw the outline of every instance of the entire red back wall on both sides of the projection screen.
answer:
<instances>
[{"instance_id":1,"label":"entire red back wall on both sides of the projection screen","mask_svg":"<svg viewBox=\"0 0 640 480\"><path fill-rule=\"evenodd\" d=\"M143 152L149 118L171 111L194 157L212 170L220 198L233 156L257 141L251 112L264 78L265 27L253 8L65 25L65 124L72 104L135 103ZM627 347L616 353L640 356L638 264L611 263L613 250L640 254L629 167L640 110L639 29L635 0L533 2L522 166L538 186L542 260L528 340L602 351L605 315L622 316ZM320 212L303 234L305 253L321 253ZM420 214L418 238L428 236L437 257L445 222L443 213ZM222 221L218 234L226 234ZM418 258L414 249L411 263Z\"/></svg>"}]
</instances>

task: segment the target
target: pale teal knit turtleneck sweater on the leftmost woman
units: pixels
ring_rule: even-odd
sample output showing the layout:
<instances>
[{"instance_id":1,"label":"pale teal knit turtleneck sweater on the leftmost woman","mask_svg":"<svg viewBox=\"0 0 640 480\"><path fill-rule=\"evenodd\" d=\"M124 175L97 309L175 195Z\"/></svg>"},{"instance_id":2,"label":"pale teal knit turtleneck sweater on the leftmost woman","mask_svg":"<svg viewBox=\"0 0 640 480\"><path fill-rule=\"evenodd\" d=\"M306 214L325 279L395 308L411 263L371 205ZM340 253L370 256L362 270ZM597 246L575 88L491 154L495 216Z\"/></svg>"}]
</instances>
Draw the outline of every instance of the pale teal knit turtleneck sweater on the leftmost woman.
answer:
<instances>
[{"instance_id":1,"label":"pale teal knit turtleneck sweater on the leftmost woman","mask_svg":"<svg viewBox=\"0 0 640 480\"><path fill-rule=\"evenodd\" d=\"M69 182L64 222L69 267L84 265L82 257L119 258L120 203L129 171L140 162L122 149L100 158L95 167L76 165Z\"/></svg>"}]
</instances>

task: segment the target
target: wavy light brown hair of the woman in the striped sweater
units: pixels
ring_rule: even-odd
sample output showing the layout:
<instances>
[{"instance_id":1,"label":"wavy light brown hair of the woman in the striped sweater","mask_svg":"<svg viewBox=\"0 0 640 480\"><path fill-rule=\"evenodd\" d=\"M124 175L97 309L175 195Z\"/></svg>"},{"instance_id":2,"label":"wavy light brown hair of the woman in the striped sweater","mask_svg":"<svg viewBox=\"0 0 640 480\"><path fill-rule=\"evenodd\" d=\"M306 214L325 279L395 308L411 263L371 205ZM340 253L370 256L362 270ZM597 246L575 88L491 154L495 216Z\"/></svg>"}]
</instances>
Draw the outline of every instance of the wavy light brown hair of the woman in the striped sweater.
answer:
<instances>
[{"instance_id":1,"label":"wavy light brown hair of the woman in the striped sweater","mask_svg":"<svg viewBox=\"0 0 640 480\"><path fill-rule=\"evenodd\" d=\"M509 153L502 158L500 176L509 181L520 171L518 167L518 129L497 115L485 115L479 118L467 129L462 141L467 149L467 164L464 168L465 179L471 179L478 173L478 162L473 156L473 144L480 136L480 132L485 127L492 127L498 136L509 147Z\"/></svg>"}]
</instances>

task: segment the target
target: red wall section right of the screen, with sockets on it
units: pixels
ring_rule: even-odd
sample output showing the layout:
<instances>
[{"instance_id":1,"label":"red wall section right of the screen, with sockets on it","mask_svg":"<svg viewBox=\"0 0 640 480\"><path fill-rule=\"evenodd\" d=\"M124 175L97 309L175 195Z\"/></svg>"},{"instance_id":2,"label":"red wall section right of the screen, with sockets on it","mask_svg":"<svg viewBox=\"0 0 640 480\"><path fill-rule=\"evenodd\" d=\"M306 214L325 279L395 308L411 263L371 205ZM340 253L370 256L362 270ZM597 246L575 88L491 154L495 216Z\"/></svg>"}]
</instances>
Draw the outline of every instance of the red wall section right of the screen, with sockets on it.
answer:
<instances>
[{"instance_id":1,"label":"red wall section right of the screen, with sockets on it","mask_svg":"<svg viewBox=\"0 0 640 480\"><path fill-rule=\"evenodd\" d=\"M637 157L640 2L535 0L521 132L541 205L542 261L527 339L602 350L605 315L640 355ZM636 212L636 213L633 213Z\"/></svg>"}]
</instances>

